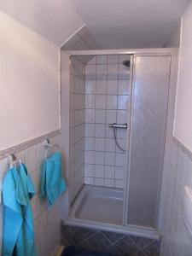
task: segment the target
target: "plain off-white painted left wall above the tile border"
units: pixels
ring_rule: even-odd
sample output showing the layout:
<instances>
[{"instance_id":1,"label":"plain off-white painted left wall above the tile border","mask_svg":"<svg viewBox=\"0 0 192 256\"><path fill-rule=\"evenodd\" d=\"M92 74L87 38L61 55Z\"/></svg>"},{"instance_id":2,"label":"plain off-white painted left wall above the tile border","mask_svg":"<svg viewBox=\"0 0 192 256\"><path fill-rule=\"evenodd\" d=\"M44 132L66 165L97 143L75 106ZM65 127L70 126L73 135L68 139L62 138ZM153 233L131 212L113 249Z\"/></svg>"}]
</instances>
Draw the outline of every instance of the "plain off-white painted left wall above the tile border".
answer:
<instances>
[{"instance_id":1,"label":"plain off-white painted left wall above the tile border","mask_svg":"<svg viewBox=\"0 0 192 256\"><path fill-rule=\"evenodd\" d=\"M0 150L60 128L59 48L0 12Z\"/></svg>"}]
</instances>

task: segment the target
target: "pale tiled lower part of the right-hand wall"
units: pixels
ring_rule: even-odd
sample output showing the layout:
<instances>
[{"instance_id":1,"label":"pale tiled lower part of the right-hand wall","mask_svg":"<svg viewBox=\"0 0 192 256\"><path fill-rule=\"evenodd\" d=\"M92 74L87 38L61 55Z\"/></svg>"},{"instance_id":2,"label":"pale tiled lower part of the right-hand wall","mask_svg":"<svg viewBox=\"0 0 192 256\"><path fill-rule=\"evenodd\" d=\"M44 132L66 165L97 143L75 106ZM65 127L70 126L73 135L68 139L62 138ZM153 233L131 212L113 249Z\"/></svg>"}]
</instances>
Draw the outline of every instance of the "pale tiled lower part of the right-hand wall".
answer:
<instances>
[{"instance_id":1,"label":"pale tiled lower part of the right-hand wall","mask_svg":"<svg viewBox=\"0 0 192 256\"><path fill-rule=\"evenodd\" d=\"M184 186L192 188L192 160L170 143L169 160L166 161L164 177L165 218L162 238L162 256L192 255L192 238L183 219Z\"/></svg>"}]
</instances>

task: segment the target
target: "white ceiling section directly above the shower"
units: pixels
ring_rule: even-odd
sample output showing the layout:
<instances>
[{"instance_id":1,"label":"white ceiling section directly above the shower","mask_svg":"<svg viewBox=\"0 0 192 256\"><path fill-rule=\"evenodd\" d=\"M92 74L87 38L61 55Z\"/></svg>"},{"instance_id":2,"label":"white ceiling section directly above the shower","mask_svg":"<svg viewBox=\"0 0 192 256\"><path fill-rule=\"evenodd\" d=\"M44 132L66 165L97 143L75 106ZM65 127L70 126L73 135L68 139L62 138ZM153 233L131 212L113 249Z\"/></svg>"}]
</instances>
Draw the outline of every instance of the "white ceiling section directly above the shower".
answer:
<instances>
[{"instance_id":1,"label":"white ceiling section directly above the shower","mask_svg":"<svg viewBox=\"0 0 192 256\"><path fill-rule=\"evenodd\" d=\"M102 49L161 47L189 0L71 0Z\"/></svg>"}]
</instances>

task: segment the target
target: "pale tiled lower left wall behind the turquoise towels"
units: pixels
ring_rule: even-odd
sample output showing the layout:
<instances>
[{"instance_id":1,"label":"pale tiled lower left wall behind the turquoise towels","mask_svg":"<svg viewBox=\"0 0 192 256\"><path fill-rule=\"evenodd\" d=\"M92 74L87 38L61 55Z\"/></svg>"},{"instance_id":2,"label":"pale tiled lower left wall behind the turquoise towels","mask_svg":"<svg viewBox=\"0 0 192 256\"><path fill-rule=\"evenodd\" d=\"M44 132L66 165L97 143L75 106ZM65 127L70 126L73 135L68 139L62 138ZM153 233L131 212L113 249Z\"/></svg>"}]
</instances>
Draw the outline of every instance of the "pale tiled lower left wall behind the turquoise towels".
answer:
<instances>
[{"instance_id":1,"label":"pale tiled lower left wall behind the turquoise towels","mask_svg":"<svg viewBox=\"0 0 192 256\"><path fill-rule=\"evenodd\" d=\"M51 143L60 144L60 136L50 138ZM36 188L36 195L32 198L32 212L35 224L36 247L38 256L54 255L60 246L61 198L54 207L47 207L45 198L39 195L40 173L44 162L44 143L38 143L31 148L15 154L17 159L26 163ZM7 159L0 160L0 180L3 180L8 170ZM0 251L2 250L3 235L3 205L0 206Z\"/></svg>"}]
</instances>

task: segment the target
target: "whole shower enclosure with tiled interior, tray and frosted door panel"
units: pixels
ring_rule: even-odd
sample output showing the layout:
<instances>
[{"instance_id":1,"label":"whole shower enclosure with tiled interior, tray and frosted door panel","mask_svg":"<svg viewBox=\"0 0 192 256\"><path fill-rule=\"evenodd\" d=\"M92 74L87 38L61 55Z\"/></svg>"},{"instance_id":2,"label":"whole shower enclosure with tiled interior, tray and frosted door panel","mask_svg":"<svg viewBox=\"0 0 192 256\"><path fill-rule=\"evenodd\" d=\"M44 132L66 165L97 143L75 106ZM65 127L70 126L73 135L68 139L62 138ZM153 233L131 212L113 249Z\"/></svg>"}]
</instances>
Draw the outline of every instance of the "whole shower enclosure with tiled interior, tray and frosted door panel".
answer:
<instances>
[{"instance_id":1,"label":"whole shower enclosure with tiled interior, tray and frosted door panel","mask_svg":"<svg viewBox=\"0 0 192 256\"><path fill-rule=\"evenodd\" d=\"M157 230L171 55L70 61L70 221Z\"/></svg>"}]
</instances>

